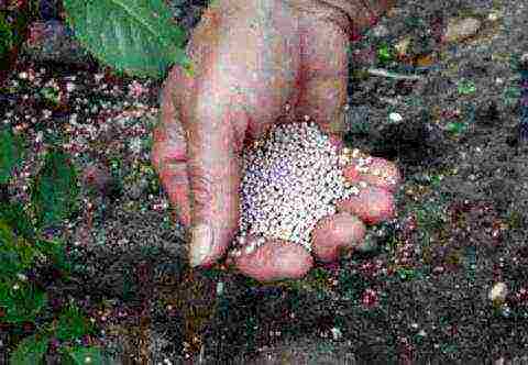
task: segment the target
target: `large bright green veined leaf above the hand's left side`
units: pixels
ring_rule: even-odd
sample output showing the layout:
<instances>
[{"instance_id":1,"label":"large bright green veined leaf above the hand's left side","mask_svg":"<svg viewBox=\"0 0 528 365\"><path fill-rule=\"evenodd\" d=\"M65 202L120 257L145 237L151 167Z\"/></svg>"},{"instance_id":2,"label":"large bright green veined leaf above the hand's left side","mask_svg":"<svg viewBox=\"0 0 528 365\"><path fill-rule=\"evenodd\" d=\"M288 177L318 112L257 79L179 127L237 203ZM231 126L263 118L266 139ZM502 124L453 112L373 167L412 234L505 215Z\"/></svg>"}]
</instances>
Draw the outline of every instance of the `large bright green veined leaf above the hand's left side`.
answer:
<instances>
[{"instance_id":1,"label":"large bright green veined leaf above the hand's left side","mask_svg":"<svg viewBox=\"0 0 528 365\"><path fill-rule=\"evenodd\" d=\"M177 26L163 0L65 0L76 37L118 71L161 78L173 63L190 71Z\"/></svg>"}]
</instances>

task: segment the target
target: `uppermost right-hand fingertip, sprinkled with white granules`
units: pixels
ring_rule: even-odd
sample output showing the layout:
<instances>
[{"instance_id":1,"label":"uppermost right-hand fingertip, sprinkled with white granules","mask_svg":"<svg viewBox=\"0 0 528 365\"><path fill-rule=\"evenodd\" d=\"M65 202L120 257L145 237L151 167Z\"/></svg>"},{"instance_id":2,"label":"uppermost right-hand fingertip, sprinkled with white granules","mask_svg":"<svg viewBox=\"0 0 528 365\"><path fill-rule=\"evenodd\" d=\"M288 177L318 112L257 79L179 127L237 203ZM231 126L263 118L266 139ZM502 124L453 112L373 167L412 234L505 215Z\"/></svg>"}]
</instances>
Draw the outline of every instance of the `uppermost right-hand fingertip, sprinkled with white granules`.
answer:
<instances>
[{"instance_id":1,"label":"uppermost right-hand fingertip, sprinkled with white granules","mask_svg":"<svg viewBox=\"0 0 528 365\"><path fill-rule=\"evenodd\" d=\"M343 175L351 184L365 181L369 185L396 191L402 182L402 175L396 164L380 157L361 155L358 150L342 152ZM361 155L361 156L360 156Z\"/></svg>"}]
</instances>

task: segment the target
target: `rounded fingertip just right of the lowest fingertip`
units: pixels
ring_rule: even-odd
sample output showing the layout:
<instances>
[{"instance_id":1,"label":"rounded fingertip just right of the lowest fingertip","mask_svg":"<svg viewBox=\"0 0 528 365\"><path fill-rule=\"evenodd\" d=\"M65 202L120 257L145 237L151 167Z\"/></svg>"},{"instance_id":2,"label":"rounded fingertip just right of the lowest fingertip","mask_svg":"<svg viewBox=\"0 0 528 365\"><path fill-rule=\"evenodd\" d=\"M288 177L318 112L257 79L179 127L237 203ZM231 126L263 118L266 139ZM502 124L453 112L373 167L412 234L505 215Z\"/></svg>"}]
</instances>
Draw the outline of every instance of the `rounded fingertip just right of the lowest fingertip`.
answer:
<instances>
[{"instance_id":1,"label":"rounded fingertip just right of the lowest fingertip","mask_svg":"<svg viewBox=\"0 0 528 365\"><path fill-rule=\"evenodd\" d=\"M324 217L312 232L314 255L323 263L337 261L342 252L361 244L365 232L363 222L346 212Z\"/></svg>"}]
</instances>

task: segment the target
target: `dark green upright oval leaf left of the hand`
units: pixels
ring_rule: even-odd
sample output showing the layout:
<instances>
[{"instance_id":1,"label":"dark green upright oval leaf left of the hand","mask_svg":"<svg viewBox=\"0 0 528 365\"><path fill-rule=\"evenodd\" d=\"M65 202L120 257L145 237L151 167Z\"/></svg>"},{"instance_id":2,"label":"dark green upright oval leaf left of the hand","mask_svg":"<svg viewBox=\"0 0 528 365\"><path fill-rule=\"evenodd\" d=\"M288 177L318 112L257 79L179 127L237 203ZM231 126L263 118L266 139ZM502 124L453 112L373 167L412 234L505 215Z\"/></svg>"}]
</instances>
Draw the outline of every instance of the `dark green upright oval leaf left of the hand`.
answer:
<instances>
[{"instance_id":1,"label":"dark green upright oval leaf left of the hand","mask_svg":"<svg viewBox=\"0 0 528 365\"><path fill-rule=\"evenodd\" d=\"M77 173L68 156L52 150L31 190L38 226L46 228L68 218L76 209L78 193Z\"/></svg>"}]
</instances>

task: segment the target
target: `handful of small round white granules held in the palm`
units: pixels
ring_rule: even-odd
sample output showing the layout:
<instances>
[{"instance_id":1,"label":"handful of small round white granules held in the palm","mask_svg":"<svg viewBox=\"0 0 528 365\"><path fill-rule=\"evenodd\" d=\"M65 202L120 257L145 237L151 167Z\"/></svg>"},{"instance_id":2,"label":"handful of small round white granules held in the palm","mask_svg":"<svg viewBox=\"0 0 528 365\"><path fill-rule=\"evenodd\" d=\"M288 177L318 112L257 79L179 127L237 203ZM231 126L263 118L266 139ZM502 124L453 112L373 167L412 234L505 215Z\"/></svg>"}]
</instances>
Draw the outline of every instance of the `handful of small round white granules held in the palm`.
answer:
<instances>
[{"instance_id":1,"label":"handful of small round white granules held in the palm","mask_svg":"<svg viewBox=\"0 0 528 365\"><path fill-rule=\"evenodd\" d=\"M244 148L238 246L252 234L260 239L245 246L246 253L264 239L295 242L311 251L317 222L334 214L337 201L359 195L362 187L345 181L342 167L348 158L338 156L328 135L312 122L277 124ZM364 164L369 163L370 157Z\"/></svg>"}]
</instances>

